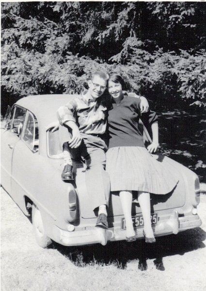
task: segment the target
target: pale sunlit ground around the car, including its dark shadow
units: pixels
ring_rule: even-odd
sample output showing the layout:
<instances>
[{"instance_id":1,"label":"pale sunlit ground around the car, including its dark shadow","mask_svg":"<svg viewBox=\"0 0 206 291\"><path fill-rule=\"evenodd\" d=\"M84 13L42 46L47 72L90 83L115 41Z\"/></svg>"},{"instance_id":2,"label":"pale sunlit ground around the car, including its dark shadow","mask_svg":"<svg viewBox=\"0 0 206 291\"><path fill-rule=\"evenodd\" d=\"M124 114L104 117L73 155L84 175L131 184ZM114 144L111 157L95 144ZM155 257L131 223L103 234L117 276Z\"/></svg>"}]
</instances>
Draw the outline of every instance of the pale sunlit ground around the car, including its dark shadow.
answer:
<instances>
[{"instance_id":1,"label":"pale sunlit ground around the car, including its dark shadow","mask_svg":"<svg viewBox=\"0 0 206 291\"><path fill-rule=\"evenodd\" d=\"M141 241L42 249L1 189L1 291L206 291L206 194L198 214L201 227L147 248L148 269L140 271Z\"/></svg>"}]
</instances>

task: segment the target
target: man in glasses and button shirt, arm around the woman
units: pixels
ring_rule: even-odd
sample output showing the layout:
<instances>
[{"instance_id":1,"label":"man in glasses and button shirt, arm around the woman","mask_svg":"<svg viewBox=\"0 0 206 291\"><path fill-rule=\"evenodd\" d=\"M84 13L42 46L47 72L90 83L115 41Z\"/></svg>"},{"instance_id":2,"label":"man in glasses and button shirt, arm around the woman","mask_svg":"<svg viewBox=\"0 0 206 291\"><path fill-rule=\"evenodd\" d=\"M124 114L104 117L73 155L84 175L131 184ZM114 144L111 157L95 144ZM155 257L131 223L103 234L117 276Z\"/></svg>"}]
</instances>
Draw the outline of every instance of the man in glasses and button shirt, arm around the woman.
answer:
<instances>
[{"instance_id":1,"label":"man in glasses and button shirt, arm around the woman","mask_svg":"<svg viewBox=\"0 0 206 291\"><path fill-rule=\"evenodd\" d=\"M59 129L64 156L62 178L72 179L70 154L73 158L80 156L87 165L85 179L92 209L98 210L95 226L105 229L108 228L110 178L105 171L107 108L105 100L100 97L106 89L108 79L109 75L105 72L95 71L88 81L88 91L61 106L57 112L62 125ZM148 102L145 100L143 103L147 107Z\"/></svg>"}]
</instances>

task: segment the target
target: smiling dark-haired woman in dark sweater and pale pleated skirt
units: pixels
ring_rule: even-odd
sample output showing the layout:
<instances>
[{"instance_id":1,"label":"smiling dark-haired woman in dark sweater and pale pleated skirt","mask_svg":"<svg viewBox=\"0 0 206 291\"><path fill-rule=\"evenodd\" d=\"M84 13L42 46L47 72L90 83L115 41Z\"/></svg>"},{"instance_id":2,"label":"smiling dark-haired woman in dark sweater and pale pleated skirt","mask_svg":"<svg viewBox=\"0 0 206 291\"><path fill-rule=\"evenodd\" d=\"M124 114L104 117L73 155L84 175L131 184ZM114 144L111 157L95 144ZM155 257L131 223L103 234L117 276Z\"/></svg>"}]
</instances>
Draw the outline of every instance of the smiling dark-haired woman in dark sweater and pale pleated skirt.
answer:
<instances>
[{"instance_id":1,"label":"smiling dark-haired woman in dark sweater and pale pleated skirt","mask_svg":"<svg viewBox=\"0 0 206 291\"><path fill-rule=\"evenodd\" d=\"M111 179L111 191L119 191L121 205L126 220L126 240L136 240L131 217L132 191L138 191L146 242L155 242L150 221L150 193L167 194L177 180L169 169L162 166L152 155L158 148L158 122L155 112L149 111L141 116L140 100L123 94L124 80L116 74L108 81L108 91L112 97L109 110L109 150L106 170ZM143 143L138 124L149 122L153 142L147 147Z\"/></svg>"}]
</instances>

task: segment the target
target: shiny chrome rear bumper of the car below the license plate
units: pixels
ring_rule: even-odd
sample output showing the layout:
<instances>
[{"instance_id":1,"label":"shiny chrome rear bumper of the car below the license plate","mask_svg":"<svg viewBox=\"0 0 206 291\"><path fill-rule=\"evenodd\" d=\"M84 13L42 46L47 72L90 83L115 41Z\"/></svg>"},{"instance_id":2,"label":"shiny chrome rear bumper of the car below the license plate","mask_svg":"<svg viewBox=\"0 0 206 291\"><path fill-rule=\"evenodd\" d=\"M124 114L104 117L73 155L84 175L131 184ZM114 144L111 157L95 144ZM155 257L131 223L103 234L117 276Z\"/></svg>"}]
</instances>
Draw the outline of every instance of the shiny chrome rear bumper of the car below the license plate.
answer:
<instances>
[{"instance_id":1,"label":"shiny chrome rear bumper of the car below the license plate","mask_svg":"<svg viewBox=\"0 0 206 291\"><path fill-rule=\"evenodd\" d=\"M161 218L159 220L157 226L154 228L154 233L156 237L177 234L180 231L201 226L201 224L202 221L197 214L178 217L177 211L173 211L169 218L166 217L165 219ZM93 243L101 243L102 245L106 245L108 241L125 240L126 231L121 230L119 226L114 226L108 230L97 227L89 227L89 229L69 232L57 226L53 226L53 237L56 242L59 242L65 246ZM136 229L136 237L137 239L143 238L143 228Z\"/></svg>"}]
</instances>

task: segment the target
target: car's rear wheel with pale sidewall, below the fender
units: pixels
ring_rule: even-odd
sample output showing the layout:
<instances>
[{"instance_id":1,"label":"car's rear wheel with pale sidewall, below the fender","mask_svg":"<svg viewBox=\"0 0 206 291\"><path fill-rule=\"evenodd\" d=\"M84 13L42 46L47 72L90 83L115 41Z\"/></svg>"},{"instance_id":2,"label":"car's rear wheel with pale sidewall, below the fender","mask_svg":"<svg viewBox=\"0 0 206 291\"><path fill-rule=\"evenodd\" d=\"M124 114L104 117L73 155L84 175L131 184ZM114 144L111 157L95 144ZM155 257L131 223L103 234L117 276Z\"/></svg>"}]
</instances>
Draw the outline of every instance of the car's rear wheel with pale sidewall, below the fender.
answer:
<instances>
[{"instance_id":1,"label":"car's rear wheel with pale sidewall, below the fender","mask_svg":"<svg viewBox=\"0 0 206 291\"><path fill-rule=\"evenodd\" d=\"M51 244L51 239L45 233L41 213L35 204L32 205L32 225L38 245L43 248L48 247Z\"/></svg>"}]
</instances>

